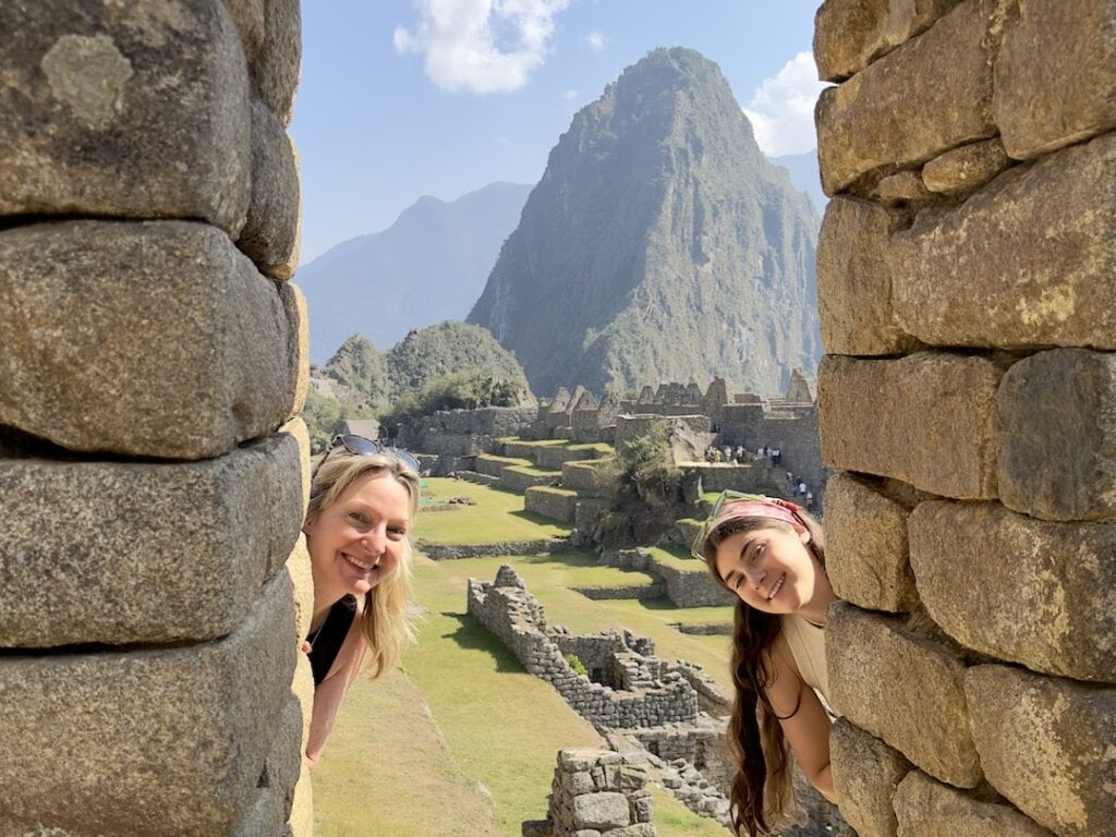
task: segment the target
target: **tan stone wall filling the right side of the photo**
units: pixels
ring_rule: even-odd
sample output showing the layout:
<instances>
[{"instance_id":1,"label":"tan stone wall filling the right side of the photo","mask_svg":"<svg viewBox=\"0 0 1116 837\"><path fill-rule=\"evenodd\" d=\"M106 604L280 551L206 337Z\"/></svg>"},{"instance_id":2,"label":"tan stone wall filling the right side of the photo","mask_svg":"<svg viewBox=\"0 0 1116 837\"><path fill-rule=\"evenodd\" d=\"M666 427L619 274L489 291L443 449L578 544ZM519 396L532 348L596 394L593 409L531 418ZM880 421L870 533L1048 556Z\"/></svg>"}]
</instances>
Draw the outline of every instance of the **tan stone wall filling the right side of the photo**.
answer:
<instances>
[{"instance_id":1,"label":"tan stone wall filling the right side of the photo","mask_svg":"<svg viewBox=\"0 0 1116 837\"><path fill-rule=\"evenodd\" d=\"M1110 834L1113 3L816 25L843 811L862 837Z\"/></svg>"}]
</instances>

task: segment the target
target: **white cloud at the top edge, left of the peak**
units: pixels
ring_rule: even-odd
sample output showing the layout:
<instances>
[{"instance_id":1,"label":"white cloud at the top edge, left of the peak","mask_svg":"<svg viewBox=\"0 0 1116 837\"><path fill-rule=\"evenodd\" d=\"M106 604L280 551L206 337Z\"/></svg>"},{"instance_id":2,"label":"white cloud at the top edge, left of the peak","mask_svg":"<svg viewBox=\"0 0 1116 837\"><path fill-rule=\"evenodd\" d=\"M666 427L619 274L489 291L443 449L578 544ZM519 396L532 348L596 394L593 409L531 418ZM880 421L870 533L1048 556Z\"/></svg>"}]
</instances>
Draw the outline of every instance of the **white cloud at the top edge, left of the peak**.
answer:
<instances>
[{"instance_id":1,"label":"white cloud at the top edge, left of the peak","mask_svg":"<svg viewBox=\"0 0 1116 837\"><path fill-rule=\"evenodd\" d=\"M555 17L569 0L413 0L421 19L396 27L395 51L425 57L446 90L510 93L542 66Z\"/></svg>"}]
</instances>

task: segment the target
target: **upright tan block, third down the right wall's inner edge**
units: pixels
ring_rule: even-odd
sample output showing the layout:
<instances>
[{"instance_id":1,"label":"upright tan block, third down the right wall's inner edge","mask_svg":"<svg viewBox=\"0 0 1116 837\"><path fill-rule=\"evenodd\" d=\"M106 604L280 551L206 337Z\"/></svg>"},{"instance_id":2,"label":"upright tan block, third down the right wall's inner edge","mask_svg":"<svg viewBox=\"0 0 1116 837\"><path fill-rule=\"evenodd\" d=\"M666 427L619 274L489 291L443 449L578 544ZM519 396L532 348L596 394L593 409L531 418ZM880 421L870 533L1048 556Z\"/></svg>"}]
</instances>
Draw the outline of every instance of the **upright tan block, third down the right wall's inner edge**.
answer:
<instances>
[{"instance_id":1,"label":"upright tan block, third down the right wall's inner edge","mask_svg":"<svg viewBox=\"0 0 1116 837\"><path fill-rule=\"evenodd\" d=\"M818 233L818 314L831 355L894 355L913 348L892 309L887 259L892 214L852 198L826 206Z\"/></svg>"}]
</instances>

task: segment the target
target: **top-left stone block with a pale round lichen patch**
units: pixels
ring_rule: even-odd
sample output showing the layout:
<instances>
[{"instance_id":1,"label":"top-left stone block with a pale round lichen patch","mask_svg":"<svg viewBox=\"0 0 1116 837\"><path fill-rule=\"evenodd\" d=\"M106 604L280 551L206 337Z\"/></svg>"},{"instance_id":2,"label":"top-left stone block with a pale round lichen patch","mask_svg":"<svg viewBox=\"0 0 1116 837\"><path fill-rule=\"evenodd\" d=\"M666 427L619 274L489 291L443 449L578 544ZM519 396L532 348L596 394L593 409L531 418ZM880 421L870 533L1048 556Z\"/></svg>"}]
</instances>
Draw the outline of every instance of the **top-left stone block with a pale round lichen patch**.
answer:
<instances>
[{"instance_id":1,"label":"top-left stone block with a pale round lichen patch","mask_svg":"<svg viewBox=\"0 0 1116 837\"><path fill-rule=\"evenodd\" d=\"M0 214L204 219L249 200L248 75L219 0L0 4Z\"/></svg>"}]
</instances>

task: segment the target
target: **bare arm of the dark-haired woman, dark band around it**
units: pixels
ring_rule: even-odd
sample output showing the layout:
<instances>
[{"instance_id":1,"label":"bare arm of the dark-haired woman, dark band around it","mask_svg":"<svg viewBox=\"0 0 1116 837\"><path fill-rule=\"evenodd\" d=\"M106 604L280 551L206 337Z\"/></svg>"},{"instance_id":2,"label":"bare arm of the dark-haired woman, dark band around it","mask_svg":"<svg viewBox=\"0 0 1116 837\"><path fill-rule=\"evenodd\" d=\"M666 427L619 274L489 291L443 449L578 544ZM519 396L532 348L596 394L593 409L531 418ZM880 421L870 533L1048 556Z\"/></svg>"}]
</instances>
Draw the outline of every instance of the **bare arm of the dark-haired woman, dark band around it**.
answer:
<instances>
[{"instance_id":1,"label":"bare arm of the dark-haired woman, dark band around it","mask_svg":"<svg viewBox=\"0 0 1116 837\"><path fill-rule=\"evenodd\" d=\"M767 687L768 700L779 716L795 759L810 785L830 802L837 802L833 768L829 764L829 732L833 724L814 690L802 682L783 636L776 639L768 657L773 680ZM797 706L797 711L796 711Z\"/></svg>"}]
</instances>

